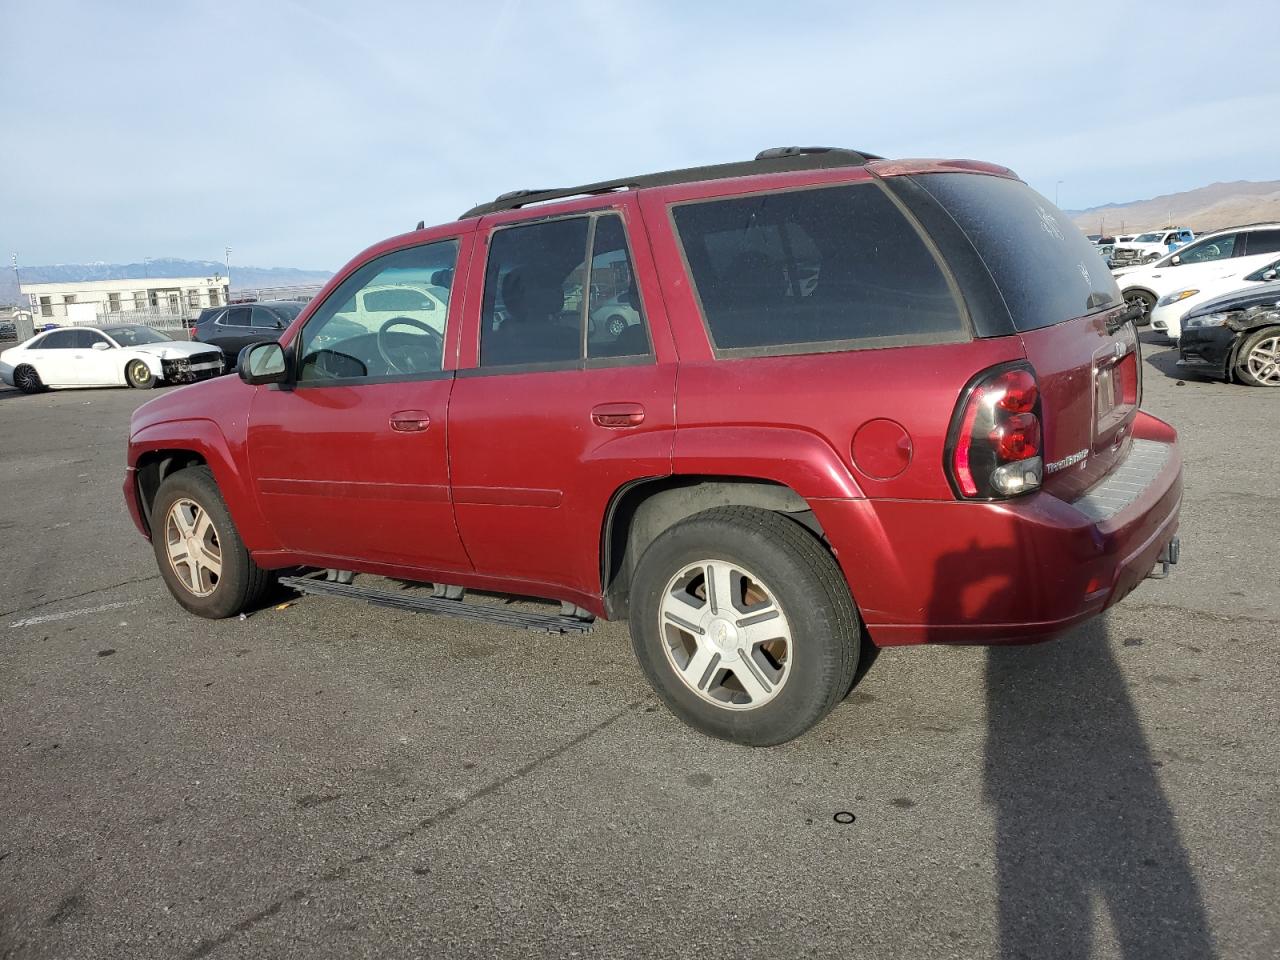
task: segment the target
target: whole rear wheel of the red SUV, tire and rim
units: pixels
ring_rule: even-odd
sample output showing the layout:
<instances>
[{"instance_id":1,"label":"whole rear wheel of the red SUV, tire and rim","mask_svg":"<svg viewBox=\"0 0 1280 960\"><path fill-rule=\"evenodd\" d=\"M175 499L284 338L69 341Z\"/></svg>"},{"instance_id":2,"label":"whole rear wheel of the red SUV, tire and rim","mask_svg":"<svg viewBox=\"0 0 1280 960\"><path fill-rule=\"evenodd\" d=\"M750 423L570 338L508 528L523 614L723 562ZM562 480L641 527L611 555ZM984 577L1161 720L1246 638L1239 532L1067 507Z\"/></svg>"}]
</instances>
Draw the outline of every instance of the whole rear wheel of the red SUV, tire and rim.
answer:
<instances>
[{"instance_id":1,"label":"whole rear wheel of the red SUV, tire and rim","mask_svg":"<svg viewBox=\"0 0 1280 960\"><path fill-rule=\"evenodd\" d=\"M822 719L852 685L859 636L835 559L778 513L698 513L636 568L640 666L672 713L722 740L771 746Z\"/></svg>"}]
</instances>

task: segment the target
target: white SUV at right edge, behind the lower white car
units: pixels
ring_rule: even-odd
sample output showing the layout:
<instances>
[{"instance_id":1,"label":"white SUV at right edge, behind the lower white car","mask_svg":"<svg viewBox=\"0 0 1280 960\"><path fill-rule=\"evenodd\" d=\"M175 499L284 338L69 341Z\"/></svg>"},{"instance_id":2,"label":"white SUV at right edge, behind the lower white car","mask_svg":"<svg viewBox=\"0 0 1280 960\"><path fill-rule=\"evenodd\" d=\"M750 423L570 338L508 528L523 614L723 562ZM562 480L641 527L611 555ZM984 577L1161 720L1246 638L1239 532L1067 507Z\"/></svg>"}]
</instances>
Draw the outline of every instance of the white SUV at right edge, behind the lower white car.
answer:
<instances>
[{"instance_id":1,"label":"white SUV at right edge, behind the lower white car","mask_svg":"<svg viewBox=\"0 0 1280 960\"><path fill-rule=\"evenodd\" d=\"M1206 276L1254 270L1276 253L1280 253L1280 223L1256 223L1207 233L1151 266L1115 270L1112 275L1124 298L1140 305L1149 316L1161 297Z\"/></svg>"}]
</instances>

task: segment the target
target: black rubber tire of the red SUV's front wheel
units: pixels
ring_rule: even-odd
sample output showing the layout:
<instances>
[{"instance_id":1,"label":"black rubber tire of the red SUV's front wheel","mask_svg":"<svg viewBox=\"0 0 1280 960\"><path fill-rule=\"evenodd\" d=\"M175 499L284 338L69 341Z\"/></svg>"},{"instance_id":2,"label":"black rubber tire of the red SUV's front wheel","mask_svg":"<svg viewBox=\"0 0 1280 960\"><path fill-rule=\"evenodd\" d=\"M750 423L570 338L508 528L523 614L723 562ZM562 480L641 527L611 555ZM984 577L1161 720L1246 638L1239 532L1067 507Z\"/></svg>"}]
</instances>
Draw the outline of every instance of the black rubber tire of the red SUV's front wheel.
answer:
<instances>
[{"instance_id":1,"label":"black rubber tire of the red SUV's front wheel","mask_svg":"<svg viewBox=\"0 0 1280 960\"><path fill-rule=\"evenodd\" d=\"M193 502L202 508L216 536L215 545L220 552L221 570L211 593L205 596L197 595L183 582L175 564L169 559L169 513L180 500ZM169 593L198 617L223 620L243 613L262 598L271 584L271 575L259 567L244 549L227 503L218 490L218 483L206 466L179 470L160 484L151 508L151 544L155 548L160 576L164 577Z\"/></svg>"}]
</instances>

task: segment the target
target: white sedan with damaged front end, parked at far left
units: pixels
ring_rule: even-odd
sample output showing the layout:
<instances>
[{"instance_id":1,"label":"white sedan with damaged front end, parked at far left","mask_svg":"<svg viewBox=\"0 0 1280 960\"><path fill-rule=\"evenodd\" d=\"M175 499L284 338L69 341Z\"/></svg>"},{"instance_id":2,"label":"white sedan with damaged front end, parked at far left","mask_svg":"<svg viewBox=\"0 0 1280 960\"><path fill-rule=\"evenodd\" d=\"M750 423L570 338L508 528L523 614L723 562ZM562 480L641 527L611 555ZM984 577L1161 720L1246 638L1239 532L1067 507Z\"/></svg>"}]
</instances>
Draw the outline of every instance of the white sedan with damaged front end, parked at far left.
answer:
<instances>
[{"instance_id":1,"label":"white sedan with damaged front end, parked at far left","mask_svg":"<svg viewBox=\"0 0 1280 960\"><path fill-rule=\"evenodd\" d=\"M61 326L0 353L0 380L24 393L67 387L193 383L223 372L207 343L172 340L150 326Z\"/></svg>"}]
</instances>

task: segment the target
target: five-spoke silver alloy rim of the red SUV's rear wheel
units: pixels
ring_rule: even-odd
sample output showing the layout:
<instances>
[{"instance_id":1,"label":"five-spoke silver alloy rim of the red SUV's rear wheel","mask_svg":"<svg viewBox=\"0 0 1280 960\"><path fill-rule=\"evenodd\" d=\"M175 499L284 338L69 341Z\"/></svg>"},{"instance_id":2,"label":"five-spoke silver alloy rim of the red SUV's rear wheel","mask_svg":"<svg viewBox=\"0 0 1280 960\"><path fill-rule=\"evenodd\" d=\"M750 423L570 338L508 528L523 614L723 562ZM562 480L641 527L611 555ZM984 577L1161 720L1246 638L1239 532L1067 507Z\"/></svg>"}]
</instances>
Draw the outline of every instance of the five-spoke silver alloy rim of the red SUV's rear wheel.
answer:
<instances>
[{"instance_id":1,"label":"five-spoke silver alloy rim of the red SUV's rear wheel","mask_svg":"<svg viewBox=\"0 0 1280 960\"><path fill-rule=\"evenodd\" d=\"M717 707L763 707L791 675L786 613L773 591L741 564L687 564L668 581L659 617L662 646L676 676Z\"/></svg>"}]
</instances>

